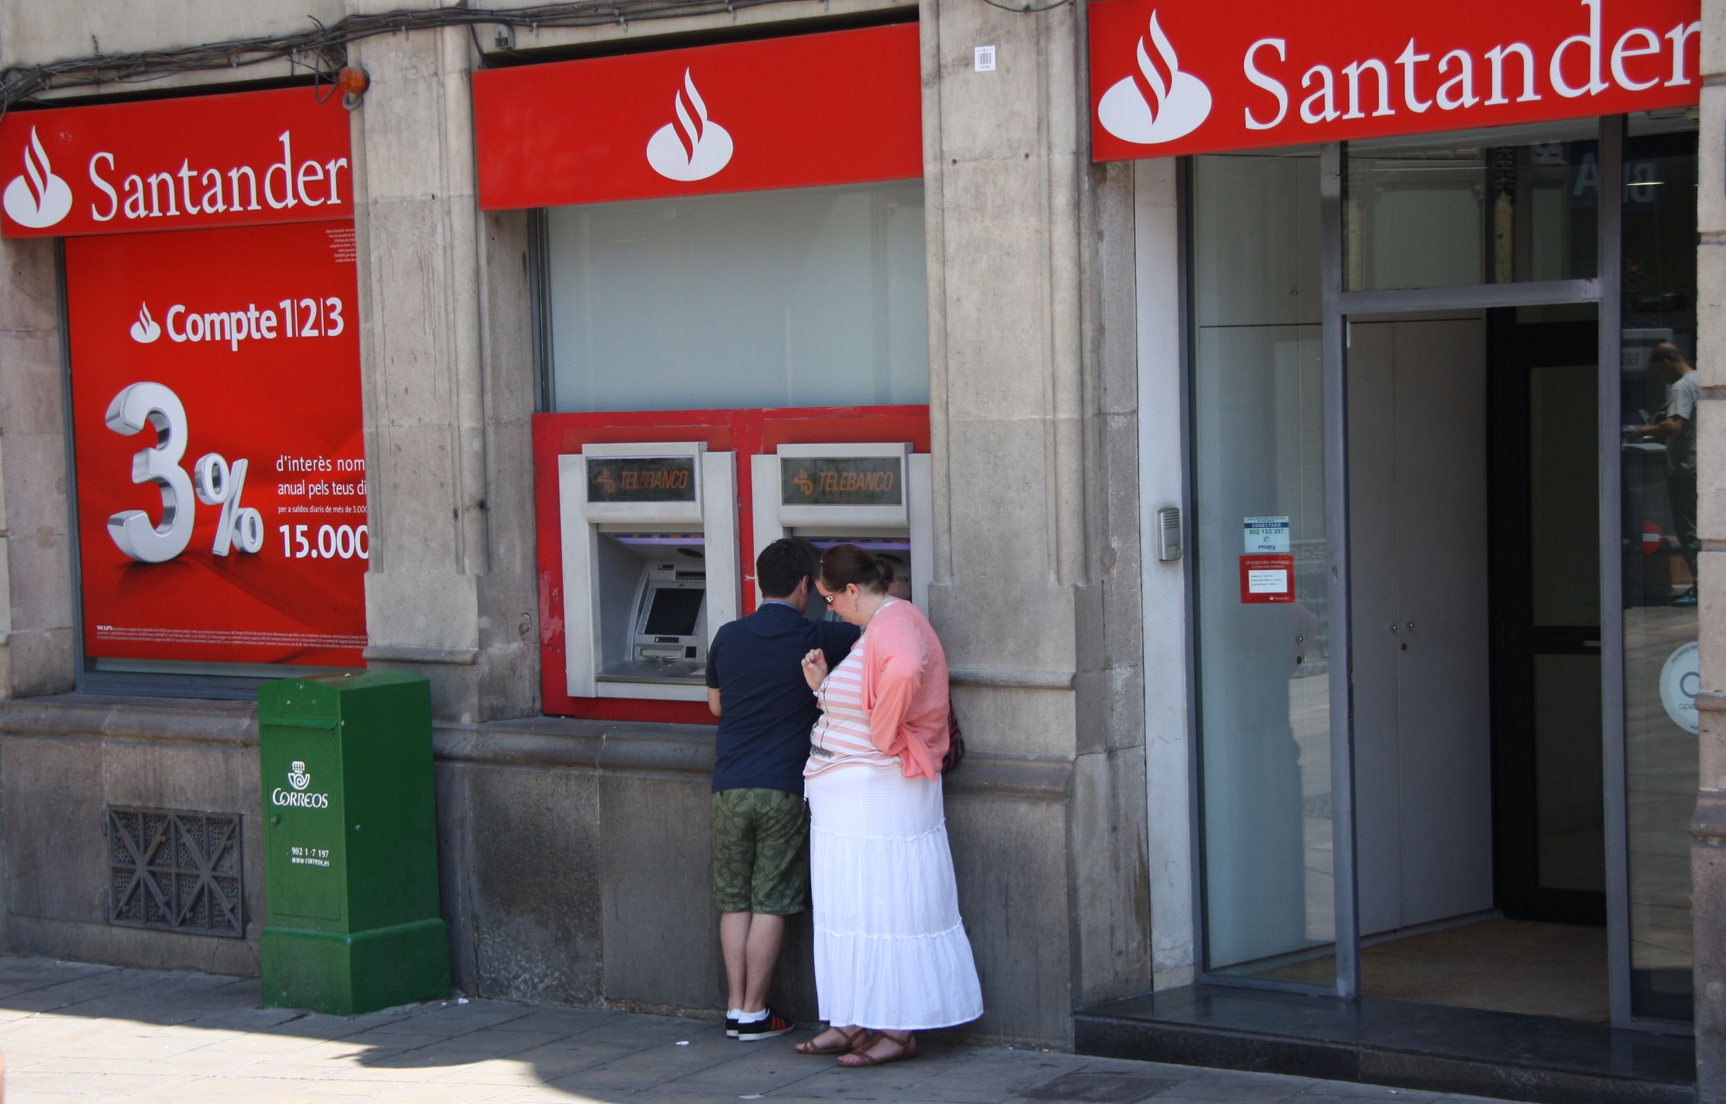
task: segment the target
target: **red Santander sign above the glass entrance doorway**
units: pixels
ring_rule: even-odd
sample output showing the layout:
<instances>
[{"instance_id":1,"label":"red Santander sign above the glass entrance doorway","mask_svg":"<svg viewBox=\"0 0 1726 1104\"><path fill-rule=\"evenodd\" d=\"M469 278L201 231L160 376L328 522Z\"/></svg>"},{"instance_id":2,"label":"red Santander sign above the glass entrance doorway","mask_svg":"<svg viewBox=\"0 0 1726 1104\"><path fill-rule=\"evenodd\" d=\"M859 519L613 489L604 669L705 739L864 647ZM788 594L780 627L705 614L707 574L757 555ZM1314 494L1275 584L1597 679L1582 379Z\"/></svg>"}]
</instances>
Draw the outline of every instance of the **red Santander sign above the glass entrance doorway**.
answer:
<instances>
[{"instance_id":1,"label":"red Santander sign above the glass entrance doorway","mask_svg":"<svg viewBox=\"0 0 1726 1104\"><path fill-rule=\"evenodd\" d=\"M1091 152L1132 160L1700 100L1700 0L1096 0Z\"/></svg>"}]
</instances>

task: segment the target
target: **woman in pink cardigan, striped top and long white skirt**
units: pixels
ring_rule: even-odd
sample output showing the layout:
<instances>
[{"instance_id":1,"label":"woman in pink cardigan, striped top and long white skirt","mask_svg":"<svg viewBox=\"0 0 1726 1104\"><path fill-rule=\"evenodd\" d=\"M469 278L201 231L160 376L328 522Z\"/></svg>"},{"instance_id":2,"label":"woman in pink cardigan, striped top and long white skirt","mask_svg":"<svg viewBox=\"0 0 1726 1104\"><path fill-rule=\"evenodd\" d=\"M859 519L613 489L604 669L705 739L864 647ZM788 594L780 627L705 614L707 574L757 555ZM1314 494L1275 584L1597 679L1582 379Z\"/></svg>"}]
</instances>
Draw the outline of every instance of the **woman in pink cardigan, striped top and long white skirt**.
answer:
<instances>
[{"instance_id":1,"label":"woman in pink cardigan, striped top and long white skirt","mask_svg":"<svg viewBox=\"0 0 1726 1104\"><path fill-rule=\"evenodd\" d=\"M922 611L889 593L892 566L856 545L822 555L816 590L863 637L832 671L803 771L809 800L815 988L830 1026L799 1044L841 1066L917 1057L915 1032L982 1016L941 797L948 659Z\"/></svg>"}]
</instances>

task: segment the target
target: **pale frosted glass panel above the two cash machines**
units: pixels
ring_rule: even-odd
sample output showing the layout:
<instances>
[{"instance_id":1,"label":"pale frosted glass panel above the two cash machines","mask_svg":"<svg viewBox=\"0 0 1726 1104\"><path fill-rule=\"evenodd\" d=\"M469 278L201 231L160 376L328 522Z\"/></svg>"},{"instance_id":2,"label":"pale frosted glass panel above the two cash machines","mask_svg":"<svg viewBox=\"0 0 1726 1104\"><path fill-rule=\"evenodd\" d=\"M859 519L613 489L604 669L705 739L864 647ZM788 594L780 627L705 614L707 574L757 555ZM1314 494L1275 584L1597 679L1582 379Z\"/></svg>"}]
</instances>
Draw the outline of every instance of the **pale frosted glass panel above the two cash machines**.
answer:
<instances>
[{"instance_id":1,"label":"pale frosted glass panel above the two cash machines","mask_svg":"<svg viewBox=\"0 0 1726 1104\"><path fill-rule=\"evenodd\" d=\"M923 185L547 212L554 411L929 402Z\"/></svg>"}]
</instances>

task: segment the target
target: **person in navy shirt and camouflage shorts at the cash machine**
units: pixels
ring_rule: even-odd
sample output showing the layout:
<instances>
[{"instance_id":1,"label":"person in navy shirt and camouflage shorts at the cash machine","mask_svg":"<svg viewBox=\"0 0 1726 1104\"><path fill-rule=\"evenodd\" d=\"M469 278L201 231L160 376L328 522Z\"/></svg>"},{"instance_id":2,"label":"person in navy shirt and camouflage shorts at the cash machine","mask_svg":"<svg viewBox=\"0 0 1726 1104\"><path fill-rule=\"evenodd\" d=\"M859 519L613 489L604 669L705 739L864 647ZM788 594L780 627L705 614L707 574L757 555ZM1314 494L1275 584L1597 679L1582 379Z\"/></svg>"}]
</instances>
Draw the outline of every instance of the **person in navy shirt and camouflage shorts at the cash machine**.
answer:
<instances>
[{"instance_id":1,"label":"person in navy shirt and camouflage shorts at the cash machine","mask_svg":"<svg viewBox=\"0 0 1726 1104\"><path fill-rule=\"evenodd\" d=\"M803 764L820 714L803 680L809 649L844 661L861 630L804 618L820 557L785 536L756 557L761 604L720 626L708 649L708 707L720 718L713 764L713 899L725 952L725 1033L772 1038L792 1028L766 1006L785 916L809 907L809 809Z\"/></svg>"}]
</instances>

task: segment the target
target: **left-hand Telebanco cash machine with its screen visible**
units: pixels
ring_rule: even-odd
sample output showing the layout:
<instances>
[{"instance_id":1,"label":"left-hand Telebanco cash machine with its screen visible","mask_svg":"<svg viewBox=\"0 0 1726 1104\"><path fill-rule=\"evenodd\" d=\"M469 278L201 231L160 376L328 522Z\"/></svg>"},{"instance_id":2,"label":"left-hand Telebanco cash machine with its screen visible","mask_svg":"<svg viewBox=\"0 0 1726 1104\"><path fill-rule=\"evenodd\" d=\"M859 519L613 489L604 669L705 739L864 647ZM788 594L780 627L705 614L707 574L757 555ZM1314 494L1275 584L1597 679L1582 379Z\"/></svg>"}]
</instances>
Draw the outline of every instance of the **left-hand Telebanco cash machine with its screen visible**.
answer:
<instances>
[{"instance_id":1,"label":"left-hand Telebanco cash machine with its screen visible","mask_svg":"<svg viewBox=\"0 0 1726 1104\"><path fill-rule=\"evenodd\" d=\"M570 697L708 699L739 614L737 461L702 442L557 457Z\"/></svg>"}]
</instances>

